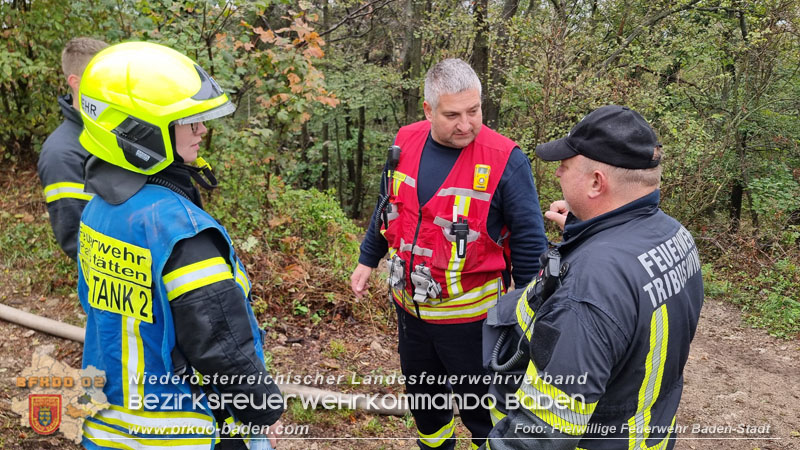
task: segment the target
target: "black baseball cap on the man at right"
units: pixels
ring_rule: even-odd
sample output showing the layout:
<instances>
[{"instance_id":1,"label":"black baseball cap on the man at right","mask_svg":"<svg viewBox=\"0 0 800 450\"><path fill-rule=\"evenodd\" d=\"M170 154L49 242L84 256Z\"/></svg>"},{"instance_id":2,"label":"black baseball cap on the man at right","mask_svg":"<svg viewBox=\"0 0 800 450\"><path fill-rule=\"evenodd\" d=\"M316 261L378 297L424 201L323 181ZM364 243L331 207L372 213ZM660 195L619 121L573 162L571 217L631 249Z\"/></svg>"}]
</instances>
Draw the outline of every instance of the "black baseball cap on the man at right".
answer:
<instances>
[{"instance_id":1,"label":"black baseball cap on the man at right","mask_svg":"<svg viewBox=\"0 0 800 450\"><path fill-rule=\"evenodd\" d=\"M578 122L566 137L536 146L545 161L583 155L615 167L649 169L661 162L655 131L636 111L617 105L598 108Z\"/></svg>"}]
</instances>

